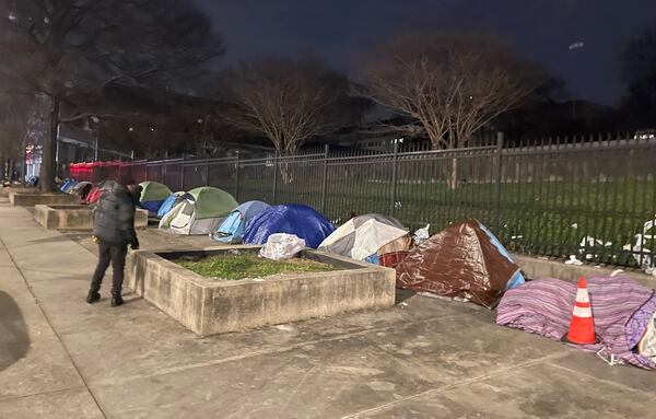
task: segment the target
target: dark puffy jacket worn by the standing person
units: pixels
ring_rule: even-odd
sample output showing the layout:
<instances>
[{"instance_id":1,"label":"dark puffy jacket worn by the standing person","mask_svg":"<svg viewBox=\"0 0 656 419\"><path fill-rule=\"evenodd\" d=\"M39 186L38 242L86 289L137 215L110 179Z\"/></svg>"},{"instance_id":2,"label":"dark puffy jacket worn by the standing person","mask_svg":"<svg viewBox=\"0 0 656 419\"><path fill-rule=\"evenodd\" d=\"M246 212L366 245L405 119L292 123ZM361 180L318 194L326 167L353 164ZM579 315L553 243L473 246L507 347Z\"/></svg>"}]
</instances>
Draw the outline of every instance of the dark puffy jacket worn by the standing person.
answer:
<instances>
[{"instance_id":1,"label":"dark puffy jacket worn by the standing person","mask_svg":"<svg viewBox=\"0 0 656 419\"><path fill-rule=\"evenodd\" d=\"M120 184L104 191L93 211L95 236L109 244L139 246L134 232L134 195Z\"/></svg>"}]
</instances>

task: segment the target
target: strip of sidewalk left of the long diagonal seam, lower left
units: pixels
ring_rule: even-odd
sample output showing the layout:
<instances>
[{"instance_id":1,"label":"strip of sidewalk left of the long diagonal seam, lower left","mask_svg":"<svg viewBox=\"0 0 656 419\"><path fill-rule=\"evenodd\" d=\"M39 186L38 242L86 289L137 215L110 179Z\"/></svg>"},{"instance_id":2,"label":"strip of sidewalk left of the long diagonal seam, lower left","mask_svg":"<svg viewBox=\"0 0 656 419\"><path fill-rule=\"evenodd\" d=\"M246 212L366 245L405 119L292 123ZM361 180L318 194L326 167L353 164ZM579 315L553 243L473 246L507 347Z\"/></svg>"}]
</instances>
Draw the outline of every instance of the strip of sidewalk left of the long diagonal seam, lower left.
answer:
<instances>
[{"instance_id":1,"label":"strip of sidewalk left of the long diagonal seam, lower left","mask_svg":"<svg viewBox=\"0 0 656 419\"><path fill-rule=\"evenodd\" d=\"M2 207L3 209L4 207ZM7 224L24 221L2 213ZM0 417L102 418L0 234Z\"/></svg>"}]
</instances>

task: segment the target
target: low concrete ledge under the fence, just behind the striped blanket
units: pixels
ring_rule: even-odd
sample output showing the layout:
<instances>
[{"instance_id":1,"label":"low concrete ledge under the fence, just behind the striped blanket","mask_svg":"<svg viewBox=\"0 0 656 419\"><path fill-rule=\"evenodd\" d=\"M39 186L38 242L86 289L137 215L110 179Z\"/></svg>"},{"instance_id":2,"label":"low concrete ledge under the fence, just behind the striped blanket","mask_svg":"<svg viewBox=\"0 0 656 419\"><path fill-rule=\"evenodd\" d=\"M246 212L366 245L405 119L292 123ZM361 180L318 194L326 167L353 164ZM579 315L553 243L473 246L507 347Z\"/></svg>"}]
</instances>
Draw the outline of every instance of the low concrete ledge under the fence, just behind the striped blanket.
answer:
<instances>
[{"instance_id":1,"label":"low concrete ledge under the fence, just behind the striped blanket","mask_svg":"<svg viewBox=\"0 0 656 419\"><path fill-rule=\"evenodd\" d=\"M548 259L535 256L514 254L515 263L519 265L524 273L530 279L558 278L567 281L576 281L578 277L608 277L618 267L596 267L594 265L566 265L563 260ZM622 275L649 288L656 288L656 278L643 272L623 269Z\"/></svg>"}]
</instances>

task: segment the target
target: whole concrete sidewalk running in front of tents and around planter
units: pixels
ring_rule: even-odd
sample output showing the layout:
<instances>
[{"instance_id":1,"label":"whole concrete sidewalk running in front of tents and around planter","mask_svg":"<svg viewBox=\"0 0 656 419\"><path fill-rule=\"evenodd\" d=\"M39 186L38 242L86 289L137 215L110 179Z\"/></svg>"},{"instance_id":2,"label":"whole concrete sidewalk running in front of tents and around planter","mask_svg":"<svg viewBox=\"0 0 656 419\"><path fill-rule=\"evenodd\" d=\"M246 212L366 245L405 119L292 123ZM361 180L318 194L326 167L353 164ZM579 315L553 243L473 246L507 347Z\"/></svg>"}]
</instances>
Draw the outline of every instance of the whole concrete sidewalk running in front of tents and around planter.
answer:
<instances>
[{"instance_id":1,"label":"whole concrete sidewalk running in front of tents and around planter","mask_svg":"<svg viewBox=\"0 0 656 419\"><path fill-rule=\"evenodd\" d=\"M401 294L387 311L199 339L129 293L118 309L106 289L84 303L95 256L26 210L0 203L0 240L1 306L14 307L0 312L2 418L654 415L656 373L499 327L473 304Z\"/></svg>"}]
</instances>

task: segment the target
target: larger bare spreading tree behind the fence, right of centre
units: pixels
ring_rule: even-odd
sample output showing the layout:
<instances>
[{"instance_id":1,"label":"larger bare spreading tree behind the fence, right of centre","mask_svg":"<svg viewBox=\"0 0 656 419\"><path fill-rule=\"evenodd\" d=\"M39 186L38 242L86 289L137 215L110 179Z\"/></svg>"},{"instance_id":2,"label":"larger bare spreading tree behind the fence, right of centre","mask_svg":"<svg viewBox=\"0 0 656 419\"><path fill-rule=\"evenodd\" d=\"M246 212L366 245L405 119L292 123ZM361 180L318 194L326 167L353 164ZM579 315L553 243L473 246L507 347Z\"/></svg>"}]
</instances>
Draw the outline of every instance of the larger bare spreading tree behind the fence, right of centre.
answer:
<instances>
[{"instance_id":1,"label":"larger bare spreading tree behind the fence, right of centre","mask_svg":"<svg viewBox=\"0 0 656 419\"><path fill-rule=\"evenodd\" d=\"M368 62L366 77L373 98L417 119L434 149L465 147L539 84L534 67L502 42L453 33L393 40Z\"/></svg>"}]
</instances>

